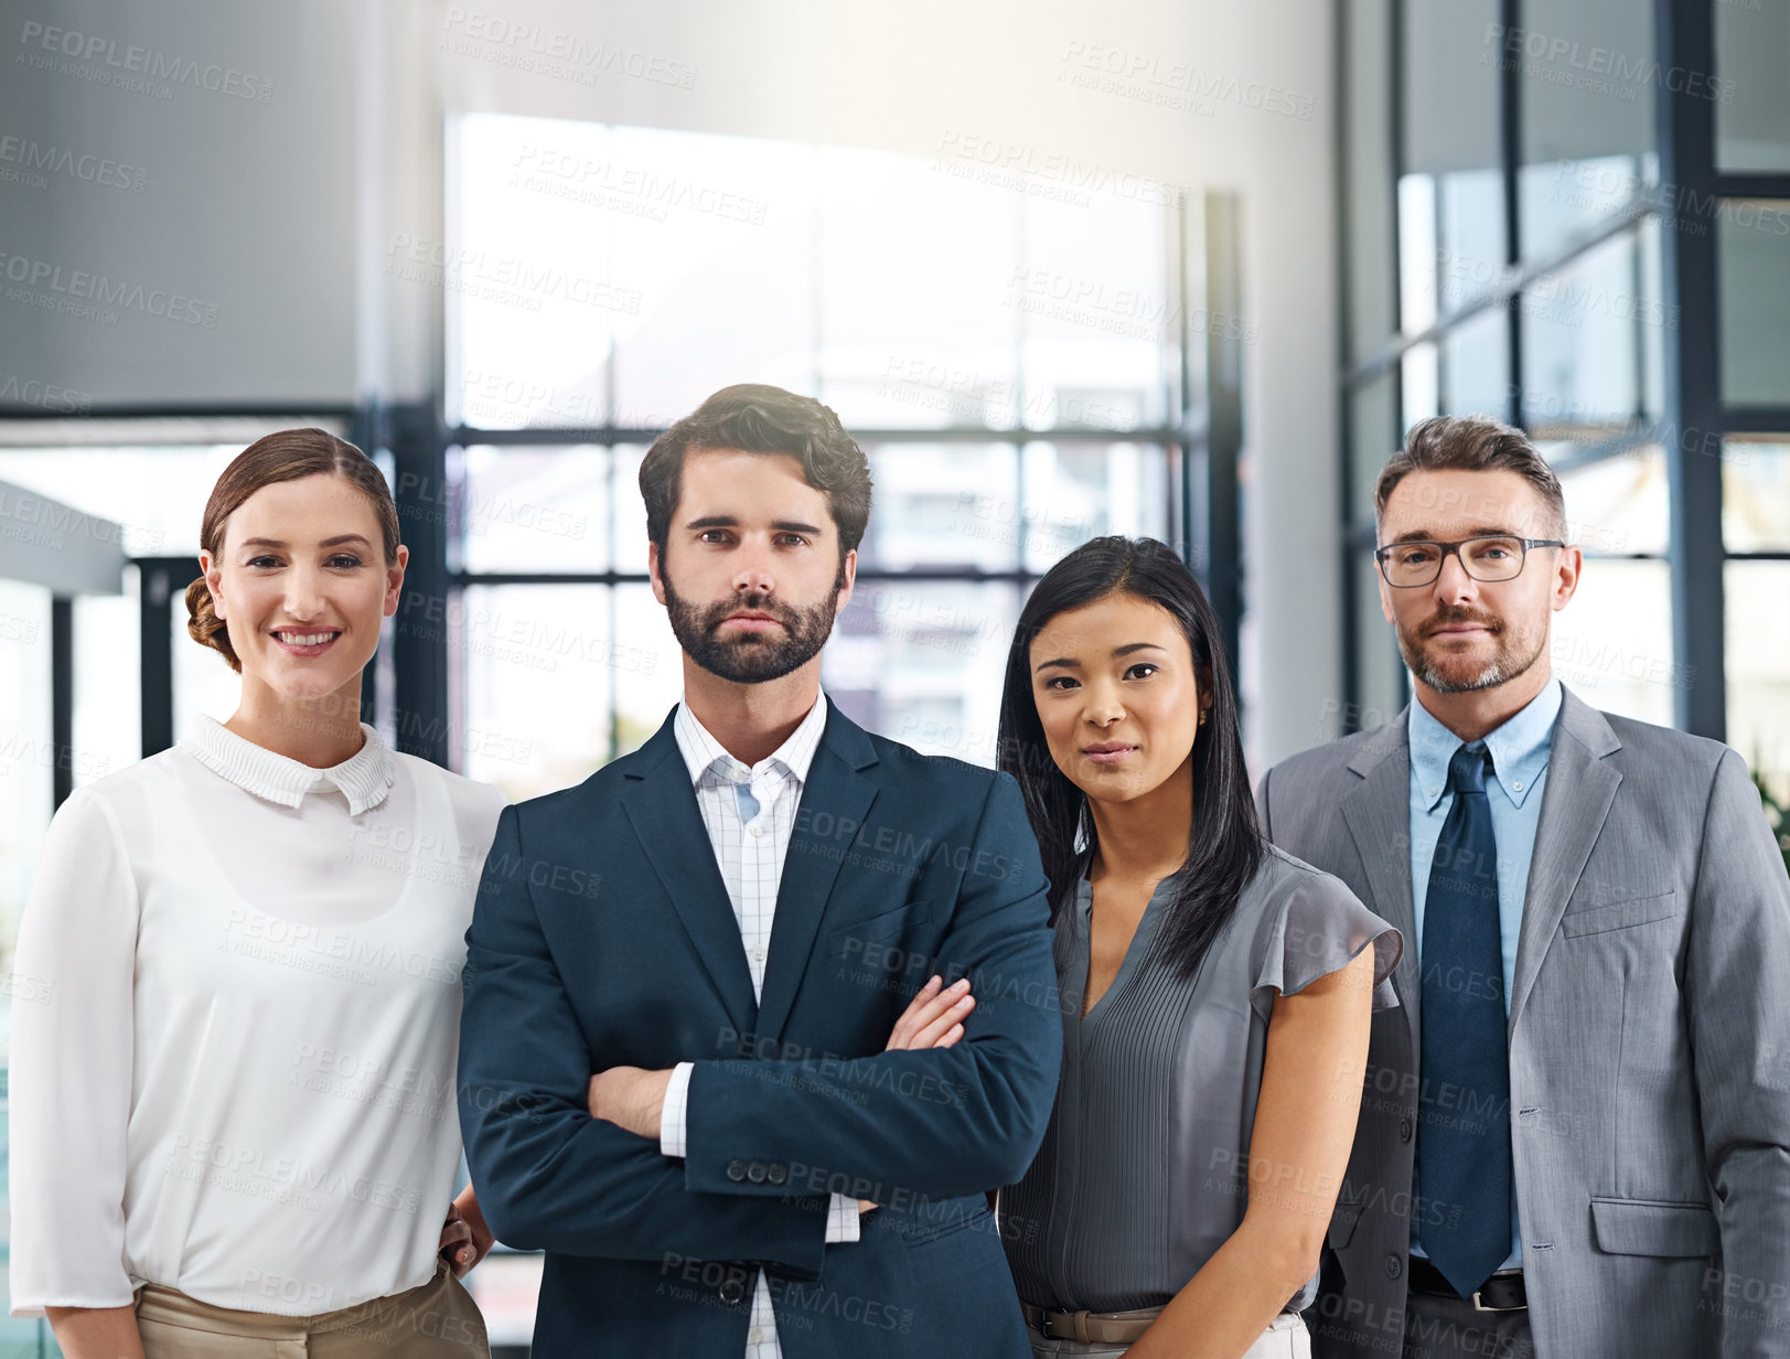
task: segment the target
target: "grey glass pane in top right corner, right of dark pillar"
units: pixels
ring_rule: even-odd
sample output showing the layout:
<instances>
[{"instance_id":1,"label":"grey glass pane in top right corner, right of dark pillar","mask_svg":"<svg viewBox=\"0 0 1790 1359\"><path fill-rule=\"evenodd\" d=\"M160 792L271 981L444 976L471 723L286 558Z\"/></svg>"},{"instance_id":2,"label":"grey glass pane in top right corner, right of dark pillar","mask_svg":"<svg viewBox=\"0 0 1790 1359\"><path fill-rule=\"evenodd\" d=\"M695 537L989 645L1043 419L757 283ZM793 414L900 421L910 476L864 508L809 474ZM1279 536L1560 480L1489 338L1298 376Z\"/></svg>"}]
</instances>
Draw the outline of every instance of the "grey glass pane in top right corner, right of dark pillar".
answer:
<instances>
[{"instance_id":1,"label":"grey glass pane in top right corner, right of dark pillar","mask_svg":"<svg viewBox=\"0 0 1790 1359\"><path fill-rule=\"evenodd\" d=\"M1727 172L1790 170L1790 7L1715 5L1715 163Z\"/></svg>"}]
</instances>

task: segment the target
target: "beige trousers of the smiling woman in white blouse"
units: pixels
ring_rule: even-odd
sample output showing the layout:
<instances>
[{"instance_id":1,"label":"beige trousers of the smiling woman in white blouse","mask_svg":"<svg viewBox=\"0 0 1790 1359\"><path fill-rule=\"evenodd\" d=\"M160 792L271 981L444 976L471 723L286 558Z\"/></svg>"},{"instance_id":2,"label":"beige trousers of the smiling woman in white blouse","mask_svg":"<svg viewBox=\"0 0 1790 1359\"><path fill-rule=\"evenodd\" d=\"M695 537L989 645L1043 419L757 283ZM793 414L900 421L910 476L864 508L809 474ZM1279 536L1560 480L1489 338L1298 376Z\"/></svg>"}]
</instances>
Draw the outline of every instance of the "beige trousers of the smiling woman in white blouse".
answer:
<instances>
[{"instance_id":1,"label":"beige trousers of the smiling woman in white blouse","mask_svg":"<svg viewBox=\"0 0 1790 1359\"><path fill-rule=\"evenodd\" d=\"M446 1264L408 1293L317 1316L238 1312L145 1284L136 1329L145 1359L490 1359L485 1318Z\"/></svg>"}]
</instances>

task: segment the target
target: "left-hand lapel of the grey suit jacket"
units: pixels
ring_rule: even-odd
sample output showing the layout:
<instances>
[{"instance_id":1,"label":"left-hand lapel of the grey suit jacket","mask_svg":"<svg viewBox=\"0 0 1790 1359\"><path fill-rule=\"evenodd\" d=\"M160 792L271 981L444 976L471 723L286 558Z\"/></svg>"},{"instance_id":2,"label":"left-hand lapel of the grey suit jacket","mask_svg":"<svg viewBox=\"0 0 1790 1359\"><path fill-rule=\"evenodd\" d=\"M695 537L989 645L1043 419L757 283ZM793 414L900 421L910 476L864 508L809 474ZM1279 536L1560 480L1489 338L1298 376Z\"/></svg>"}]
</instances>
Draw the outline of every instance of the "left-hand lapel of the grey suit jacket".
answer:
<instances>
[{"instance_id":1,"label":"left-hand lapel of the grey suit jacket","mask_svg":"<svg viewBox=\"0 0 1790 1359\"><path fill-rule=\"evenodd\" d=\"M1405 953L1393 969L1393 990L1418 1040L1421 976L1418 972L1418 911L1411 893L1411 709L1362 741L1350 761L1360 782L1342 795L1342 822L1355 838L1355 852L1373 893L1368 902L1405 938Z\"/></svg>"}]
</instances>

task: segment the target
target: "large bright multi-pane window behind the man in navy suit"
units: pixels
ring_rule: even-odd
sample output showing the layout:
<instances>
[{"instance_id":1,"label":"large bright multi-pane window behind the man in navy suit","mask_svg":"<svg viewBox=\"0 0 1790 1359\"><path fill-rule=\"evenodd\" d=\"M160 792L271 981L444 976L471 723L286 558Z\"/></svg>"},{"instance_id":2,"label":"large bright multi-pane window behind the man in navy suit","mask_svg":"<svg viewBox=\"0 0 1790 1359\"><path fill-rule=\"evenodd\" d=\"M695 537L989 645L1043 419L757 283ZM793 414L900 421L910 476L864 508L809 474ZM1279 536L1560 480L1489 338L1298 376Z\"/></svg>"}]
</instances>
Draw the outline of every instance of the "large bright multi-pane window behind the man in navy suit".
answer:
<instances>
[{"instance_id":1,"label":"large bright multi-pane window behind the man in navy suit","mask_svg":"<svg viewBox=\"0 0 1790 1359\"><path fill-rule=\"evenodd\" d=\"M467 774L562 788L677 700L644 444L618 435L723 385L816 392L863 442L875 503L823 684L927 752L993 763L1020 602L1065 551L1185 534L1183 349L1240 319L1190 294L1181 190L492 115L449 145L439 514ZM546 428L564 442L519 433Z\"/></svg>"}]
</instances>

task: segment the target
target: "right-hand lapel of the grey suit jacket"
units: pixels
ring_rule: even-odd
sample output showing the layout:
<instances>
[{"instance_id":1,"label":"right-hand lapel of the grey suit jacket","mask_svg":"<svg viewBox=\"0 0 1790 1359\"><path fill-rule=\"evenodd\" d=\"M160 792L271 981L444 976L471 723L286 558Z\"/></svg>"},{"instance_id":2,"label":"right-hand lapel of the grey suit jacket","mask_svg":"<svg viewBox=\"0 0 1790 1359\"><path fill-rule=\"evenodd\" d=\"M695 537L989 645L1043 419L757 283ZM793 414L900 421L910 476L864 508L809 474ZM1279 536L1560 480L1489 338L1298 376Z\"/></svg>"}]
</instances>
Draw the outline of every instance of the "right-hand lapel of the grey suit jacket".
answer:
<instances>
[{"instance_id":1,"label":"right-hand lapel of the grey suit jacket","mask_svg":"<svg viewBox=\"0 0 1790 1359\"><path fill-rule=\"evenodd\" d=\"M1511 1031L1523 1013L1523 1001L1536 985L1566 899L1579 885L1591 847L1597 843L1622 782L1604 756L1622 741L1604 714L1581 702L1572 689L1561 693L1561 714L1548 748L1548 786L1541 793L1536 847L1523 888L1523 926L1516 936L1516 979L1511 985Z\"/></svg>"}]
</instances>

